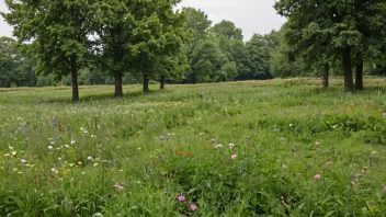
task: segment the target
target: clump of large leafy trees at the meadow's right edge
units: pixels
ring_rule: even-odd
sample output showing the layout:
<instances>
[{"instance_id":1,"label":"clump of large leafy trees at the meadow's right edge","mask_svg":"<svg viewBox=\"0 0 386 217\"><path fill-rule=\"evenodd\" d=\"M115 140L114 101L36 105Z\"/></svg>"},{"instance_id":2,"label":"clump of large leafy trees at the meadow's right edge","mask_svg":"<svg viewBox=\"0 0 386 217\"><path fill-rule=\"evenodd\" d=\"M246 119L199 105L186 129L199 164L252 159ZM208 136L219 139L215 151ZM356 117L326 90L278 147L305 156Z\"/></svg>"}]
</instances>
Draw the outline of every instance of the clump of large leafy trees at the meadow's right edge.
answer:
<instances>
[{"instance_id":1,"label":"clump of large leafy trees at the meadow's right edge","mask_svg":"<svg viewBox=\"0 0 386 217\"><path fill-rule=\"evenodd\" d=\"M323 87L329 85L331 69L343 72L348 92L363 89L365 66L385 73L385 0L279 0L274 7L287 18L284 53L290 60L323 71Z\"/></svg>"}]
</instances>

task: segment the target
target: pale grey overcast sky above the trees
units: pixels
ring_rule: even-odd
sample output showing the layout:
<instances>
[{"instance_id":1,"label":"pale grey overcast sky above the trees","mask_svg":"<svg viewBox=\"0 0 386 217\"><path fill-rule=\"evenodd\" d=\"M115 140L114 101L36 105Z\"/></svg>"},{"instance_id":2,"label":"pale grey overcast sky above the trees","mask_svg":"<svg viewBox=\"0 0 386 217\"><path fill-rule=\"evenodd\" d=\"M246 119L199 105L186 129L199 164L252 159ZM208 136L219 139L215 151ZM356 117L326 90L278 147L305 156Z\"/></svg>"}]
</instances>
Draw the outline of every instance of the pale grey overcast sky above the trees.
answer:
<instances>
[{"instance_id":1,"label":"pale grey overcast sky above the trees","mask_svg":"<svg viewBox=\"0 0 386 217\"><path fill-rule=\"evenodd\" d=\"M245 39L253 33L265 34L273 28L279 30L284 19L273 9L274 0L182 0L179 7L193 7L206 12L213 23L229 20L240 27ZM0 0L0 11L5 11L3 0ZM12 27L0 19L0 36L12 36Z\"/></svg>"}]
</instances>

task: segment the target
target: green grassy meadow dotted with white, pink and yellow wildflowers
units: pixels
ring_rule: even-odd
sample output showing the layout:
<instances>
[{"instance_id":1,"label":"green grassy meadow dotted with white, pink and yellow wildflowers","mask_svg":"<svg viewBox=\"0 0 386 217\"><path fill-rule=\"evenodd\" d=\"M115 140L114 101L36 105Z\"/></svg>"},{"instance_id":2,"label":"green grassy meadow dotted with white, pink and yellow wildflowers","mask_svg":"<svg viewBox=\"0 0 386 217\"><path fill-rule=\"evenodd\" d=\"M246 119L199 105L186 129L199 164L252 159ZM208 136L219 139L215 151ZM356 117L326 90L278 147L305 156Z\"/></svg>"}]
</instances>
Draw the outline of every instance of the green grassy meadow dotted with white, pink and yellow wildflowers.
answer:
<instances>
[{"instance_id":1,"label":"green grassy meadow dotted with white, pink and yellow wildflowers","mask_svg":"<svg viewBox=\"0 0 386 217\"><path fill-rule=\"evenodd\" d=\"M0 89L0 216L385 216L386 81Z\"/></svg>"}]
</instances>

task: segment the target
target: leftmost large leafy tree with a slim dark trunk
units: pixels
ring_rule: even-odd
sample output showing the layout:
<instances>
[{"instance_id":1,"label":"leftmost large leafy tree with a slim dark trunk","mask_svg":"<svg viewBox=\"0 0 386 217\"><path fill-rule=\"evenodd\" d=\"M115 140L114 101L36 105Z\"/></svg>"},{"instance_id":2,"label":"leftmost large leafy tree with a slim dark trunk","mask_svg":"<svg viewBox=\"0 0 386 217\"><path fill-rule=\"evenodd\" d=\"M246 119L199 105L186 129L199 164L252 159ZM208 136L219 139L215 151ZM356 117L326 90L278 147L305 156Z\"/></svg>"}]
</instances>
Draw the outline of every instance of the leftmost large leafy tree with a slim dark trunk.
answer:
<instances>
[{"instance_id":1,"label":"leftmost large leafy tree with a slim dark trunk","mask_svg":"<svg viewBox=\"0 0 386 217\"><path fill-rule=\"evenodd\" d=\"M72 101L79 100L77 75L86 66L86 45L90 33L92 1L5 1L10 13L2 13L14 25L14 35L26 54L33 56L41 75L56 80L71 73ZM49 10L47 10L49 9ZM31 44L24 44L31 42Z\"/></svg>"}]
</instances>

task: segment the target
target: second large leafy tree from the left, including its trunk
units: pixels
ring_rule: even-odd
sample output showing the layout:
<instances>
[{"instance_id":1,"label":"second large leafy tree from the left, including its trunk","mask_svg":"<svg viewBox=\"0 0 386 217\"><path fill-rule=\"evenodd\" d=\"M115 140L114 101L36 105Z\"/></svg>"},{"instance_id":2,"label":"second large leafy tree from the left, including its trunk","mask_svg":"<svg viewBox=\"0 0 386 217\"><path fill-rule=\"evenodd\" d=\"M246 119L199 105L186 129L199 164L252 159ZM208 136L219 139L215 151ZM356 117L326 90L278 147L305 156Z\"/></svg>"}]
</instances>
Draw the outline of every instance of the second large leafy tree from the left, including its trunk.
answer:
<instances>
[{"instance_id":1,"label":"second large leafy tree from the left, including its trunk","mask_svg":"<svg viewBox=\"0 0 386 217\"><path fill-rule=\"evenodd\" d=\"M184 16L172 10L175 3L111 0L93 5L93 31L98 34L92 46L93 59L114 77L115 96L123 94L124 73L132 72L138 80L156 79L164 71L161 68L167 67L163 59L169 59L168 64L174 59L172 54L180 50L185 37ZM171 71L169 75L172 77Z\"/></svg>"}]
</instances>

